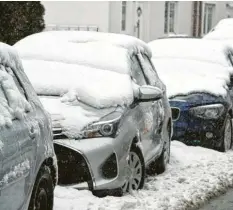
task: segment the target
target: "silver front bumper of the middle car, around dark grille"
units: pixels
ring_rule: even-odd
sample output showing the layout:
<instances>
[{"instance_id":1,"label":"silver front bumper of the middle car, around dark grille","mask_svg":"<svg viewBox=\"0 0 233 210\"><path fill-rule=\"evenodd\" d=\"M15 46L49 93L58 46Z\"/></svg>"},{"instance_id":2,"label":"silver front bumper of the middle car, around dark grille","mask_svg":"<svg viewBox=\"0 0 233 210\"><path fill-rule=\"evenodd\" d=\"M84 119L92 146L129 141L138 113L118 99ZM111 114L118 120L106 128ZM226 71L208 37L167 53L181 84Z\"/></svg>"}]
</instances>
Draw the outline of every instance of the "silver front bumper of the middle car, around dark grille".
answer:
<instances>
[{"instance_id":1,"label":"silver front bumper of the middle car, around dark grille","mask_svg":"<svg viewBox=\"0 0 233 210\"><path fill-rule=\"evenodd\" d=\"M119 157L113 138L58 139L54 144L80 154L91 175L93 190L116 189L124 184L127 157ZM78 176L78 174L77 174Z\"/></svg>"}]
</instances>

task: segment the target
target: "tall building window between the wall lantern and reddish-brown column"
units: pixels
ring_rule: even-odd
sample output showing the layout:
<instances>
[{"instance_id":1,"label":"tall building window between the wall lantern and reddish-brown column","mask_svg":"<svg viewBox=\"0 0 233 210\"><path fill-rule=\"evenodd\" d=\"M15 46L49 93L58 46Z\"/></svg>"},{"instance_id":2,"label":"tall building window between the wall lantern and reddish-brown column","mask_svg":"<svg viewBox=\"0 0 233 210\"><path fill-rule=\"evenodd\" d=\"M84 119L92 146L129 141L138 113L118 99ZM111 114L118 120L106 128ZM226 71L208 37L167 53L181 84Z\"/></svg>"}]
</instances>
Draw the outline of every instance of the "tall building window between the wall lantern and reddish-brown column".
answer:
<instances>
[{"instance_id":1,"label":"tall building window between the wall lantern and reddish-brown column","mask_svg":"<svg viewBox=\"0 0 233 210\"><path fill-rule=\"evenodd\" d=\"M164 12L164 33L175 32L175 19L176 19L176 8L177 2L166 1L165 12Z\"/></svg>"}]
</instances>

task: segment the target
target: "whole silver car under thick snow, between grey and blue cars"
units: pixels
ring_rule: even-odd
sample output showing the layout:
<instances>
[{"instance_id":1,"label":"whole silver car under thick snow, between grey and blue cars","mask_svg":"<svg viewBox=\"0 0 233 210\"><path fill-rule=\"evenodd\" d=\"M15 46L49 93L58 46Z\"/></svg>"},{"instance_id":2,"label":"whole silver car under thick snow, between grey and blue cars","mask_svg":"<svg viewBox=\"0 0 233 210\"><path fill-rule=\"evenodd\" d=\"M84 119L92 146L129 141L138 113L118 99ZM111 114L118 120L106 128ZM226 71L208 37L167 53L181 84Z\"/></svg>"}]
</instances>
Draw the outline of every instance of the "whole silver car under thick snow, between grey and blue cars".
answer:
<instances>
[{"instance_id":1,"label":"whole silver car under thick snow, between grey and blue cars","mask_svg":"<svg viewBox=\"0 0 233 210\"><path fill-rule=\"evenodd\" d=\"M143 187L170 157L166 88L144 42L126 35L43 32L15 47L53 118L59 183L96 194Z\"/></svg>"}]
</instances>

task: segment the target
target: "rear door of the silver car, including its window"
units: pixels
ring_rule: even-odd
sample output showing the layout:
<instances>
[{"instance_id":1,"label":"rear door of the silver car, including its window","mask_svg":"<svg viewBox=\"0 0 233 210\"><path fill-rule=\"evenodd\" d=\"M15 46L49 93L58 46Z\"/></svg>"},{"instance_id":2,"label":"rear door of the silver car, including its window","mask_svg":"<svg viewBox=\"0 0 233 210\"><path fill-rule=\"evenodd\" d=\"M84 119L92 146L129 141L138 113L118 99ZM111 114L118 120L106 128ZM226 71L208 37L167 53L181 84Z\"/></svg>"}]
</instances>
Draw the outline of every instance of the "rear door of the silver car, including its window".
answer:
<instances>
[{"instance_id":1,"label":"rear door of the silver car, including its window","mask_svg":"<svg viewBox=\"0 0 233 210\"><path fill-rule=\"evenodd\" d=\"M159 79L148 56L145 54L139 54L138 57L142 64L143 71L145 72L145 76L148 79L148 83L151 86L158 87L165 92L165 86ZM162 126L165 119L163 98L152 102L152 111L154 124L152 132L152 145L150 148L152 150L156 150L156 147L162 143Z\"/></svg>"}]
</instances>

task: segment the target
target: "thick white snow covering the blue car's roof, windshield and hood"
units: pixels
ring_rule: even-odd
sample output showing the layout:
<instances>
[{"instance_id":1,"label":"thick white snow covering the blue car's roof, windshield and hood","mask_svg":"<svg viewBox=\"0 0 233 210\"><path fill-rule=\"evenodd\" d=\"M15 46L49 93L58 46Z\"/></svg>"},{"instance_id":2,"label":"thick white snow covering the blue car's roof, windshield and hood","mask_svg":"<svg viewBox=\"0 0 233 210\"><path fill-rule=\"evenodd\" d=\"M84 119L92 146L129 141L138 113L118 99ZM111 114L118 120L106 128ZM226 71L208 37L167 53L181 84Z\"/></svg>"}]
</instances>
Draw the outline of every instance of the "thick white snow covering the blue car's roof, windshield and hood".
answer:
<instances>
[{"instance_id":1,"label":"thick white snow covering the blue car's roof, windshield and hood","mask_svg":"<svg viewBox=\"0 0 233 210\"><path fill-rule=\"evenodd\" d=\"M228 48L222 43L163 39L149 45L152 61L167 86L169 97L194 92L226 96L233 68L225 54Z\"/></svg>"}]
</instances>

